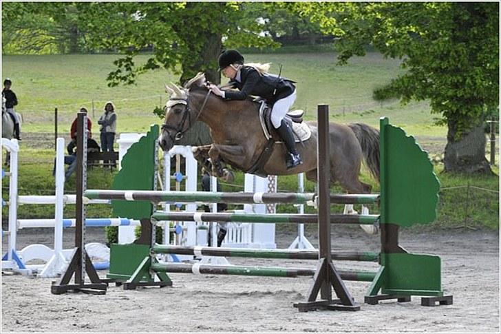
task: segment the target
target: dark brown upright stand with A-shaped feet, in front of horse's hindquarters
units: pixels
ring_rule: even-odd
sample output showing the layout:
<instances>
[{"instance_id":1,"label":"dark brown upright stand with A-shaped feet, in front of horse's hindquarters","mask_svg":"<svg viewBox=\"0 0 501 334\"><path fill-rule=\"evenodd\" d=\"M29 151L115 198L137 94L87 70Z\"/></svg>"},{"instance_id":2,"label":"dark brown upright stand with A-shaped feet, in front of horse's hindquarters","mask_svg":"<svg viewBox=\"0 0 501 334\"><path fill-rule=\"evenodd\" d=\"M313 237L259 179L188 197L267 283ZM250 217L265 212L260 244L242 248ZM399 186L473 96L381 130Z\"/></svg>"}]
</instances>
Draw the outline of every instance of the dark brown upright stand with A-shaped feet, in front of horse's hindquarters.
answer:
<instances>
[{"instance_id":1,"label":"dark brown upright stand with A-shaped feet, in front of horse's hindquarters","mask_svg":"<svg viewBox=\"0 0 501 334\"><path fill-rule=\"evenodd\" d=\"M359 311L360 306L354 303L352 295L346 288L341 275L332 263L330 245L330 156L329 152L329 106L319 105L317 110L317 185L319 193L318 225L319 225L319 262L313 282L308 291L306 302L295 303L300 312L316 309L339 311ZM339 300L332 300L332 288ZM317 301L320 293L321 300Z\"/></svg>"}]
</instances>

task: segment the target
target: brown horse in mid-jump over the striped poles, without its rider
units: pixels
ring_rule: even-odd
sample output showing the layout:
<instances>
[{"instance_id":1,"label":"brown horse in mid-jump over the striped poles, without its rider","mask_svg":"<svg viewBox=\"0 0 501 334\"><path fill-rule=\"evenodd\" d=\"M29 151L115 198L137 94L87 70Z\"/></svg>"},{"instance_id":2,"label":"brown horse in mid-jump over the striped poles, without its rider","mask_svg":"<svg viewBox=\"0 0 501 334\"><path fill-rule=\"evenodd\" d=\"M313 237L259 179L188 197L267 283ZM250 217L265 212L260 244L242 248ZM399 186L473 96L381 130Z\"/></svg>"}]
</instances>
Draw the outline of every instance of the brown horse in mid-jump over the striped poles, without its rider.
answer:
<instances>
[{"instance_id":1,"label":"brown horse in mid-jump over the striped poles, without its rider","mask_svg":"<svg viewBox=\"0 0 501 334\"><path fill-rule=\"evenodd\" d=\"M206 88L205 76L199 73L184 88L173 85L166 92L171 98L165 106L165 121L160 135L160 147L167 152L195 121L209 126L212 145L195 147L193 152L202 165L211 166L213 175L223 176L224 164L248 171L266 145L259 121L259 104L251 100L224 101ZM312 135L297 149L303 164L286 169L284 144L275 144L263 171L270 175L290 175L305 172L306 178L317 182L317 127L308 122ZM348 125L330 123L331 182L348 193L367 194L371 186L359 180L361 163L379 180L379 131L362 123ZM211 163L207 158L211 159Z\"/></svg>"}]
</instances>

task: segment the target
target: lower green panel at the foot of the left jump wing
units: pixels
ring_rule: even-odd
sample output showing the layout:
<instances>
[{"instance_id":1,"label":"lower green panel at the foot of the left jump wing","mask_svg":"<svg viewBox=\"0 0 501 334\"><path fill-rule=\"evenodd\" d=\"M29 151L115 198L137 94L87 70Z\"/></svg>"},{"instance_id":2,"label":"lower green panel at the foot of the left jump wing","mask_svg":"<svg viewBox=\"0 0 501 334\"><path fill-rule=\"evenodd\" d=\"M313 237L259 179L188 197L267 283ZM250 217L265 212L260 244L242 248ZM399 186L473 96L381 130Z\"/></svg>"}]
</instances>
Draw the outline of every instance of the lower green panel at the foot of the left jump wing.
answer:
<instances>
[{"instance_id":1,"label":"lower green panel at the foot of the left jump wing","mask_svg":"<svg viewBox=\"0 0 501 334\"><path fill-rule=\"evenodd\" d=\"M107 278L128 280L149 256L148 244L111 244Z\"/></svg>"}]
</instances>

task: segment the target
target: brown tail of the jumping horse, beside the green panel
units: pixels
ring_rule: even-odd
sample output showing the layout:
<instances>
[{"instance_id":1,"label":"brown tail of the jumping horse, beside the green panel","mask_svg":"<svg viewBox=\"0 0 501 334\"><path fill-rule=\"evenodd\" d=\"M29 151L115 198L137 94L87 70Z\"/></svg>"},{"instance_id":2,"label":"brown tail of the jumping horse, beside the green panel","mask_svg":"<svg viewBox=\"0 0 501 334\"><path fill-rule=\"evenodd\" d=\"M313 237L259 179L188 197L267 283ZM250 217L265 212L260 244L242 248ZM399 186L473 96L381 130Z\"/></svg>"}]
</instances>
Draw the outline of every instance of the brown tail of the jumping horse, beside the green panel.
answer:
<instances>
[{"instance_id":1,"label":"brown tail of the jumping horse, beside the green panel","mask_svg":"<svg viewBox=\"0 0 501 334\"><path fill-rule=\"evenodd\" d=\"M379 130L363 123L350 123L362 148L363 160L370 174L379 182Z\"/></svg>"}]
</instances>

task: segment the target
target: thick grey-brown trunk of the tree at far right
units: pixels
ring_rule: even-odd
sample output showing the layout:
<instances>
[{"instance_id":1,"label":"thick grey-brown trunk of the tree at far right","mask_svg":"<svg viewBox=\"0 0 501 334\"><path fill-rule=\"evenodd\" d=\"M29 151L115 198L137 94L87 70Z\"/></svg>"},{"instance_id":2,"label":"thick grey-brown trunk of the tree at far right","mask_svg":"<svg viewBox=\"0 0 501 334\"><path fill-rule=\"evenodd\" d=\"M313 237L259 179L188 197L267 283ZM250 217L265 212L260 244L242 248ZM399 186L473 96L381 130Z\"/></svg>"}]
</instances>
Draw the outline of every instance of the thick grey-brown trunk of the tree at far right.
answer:
<instances>
[{"instance_id":1,"label":"thick grey-brown trunk of the tree at far right","mask_svg":"<svg viewBox=\"0 0 501 334\"><path fill-rule=\"evenodd\" d=\"M447 145L445 146L445 171L456 173L493 174L487 158L485 158L485 132L483 122L472 127L470 132L455 139L457 124L449 120Z\"/></svg>"}]
</instances>

